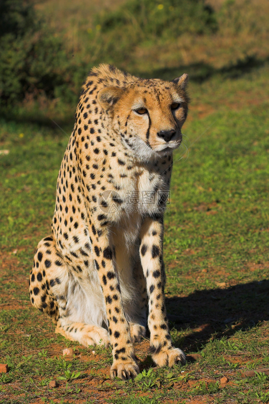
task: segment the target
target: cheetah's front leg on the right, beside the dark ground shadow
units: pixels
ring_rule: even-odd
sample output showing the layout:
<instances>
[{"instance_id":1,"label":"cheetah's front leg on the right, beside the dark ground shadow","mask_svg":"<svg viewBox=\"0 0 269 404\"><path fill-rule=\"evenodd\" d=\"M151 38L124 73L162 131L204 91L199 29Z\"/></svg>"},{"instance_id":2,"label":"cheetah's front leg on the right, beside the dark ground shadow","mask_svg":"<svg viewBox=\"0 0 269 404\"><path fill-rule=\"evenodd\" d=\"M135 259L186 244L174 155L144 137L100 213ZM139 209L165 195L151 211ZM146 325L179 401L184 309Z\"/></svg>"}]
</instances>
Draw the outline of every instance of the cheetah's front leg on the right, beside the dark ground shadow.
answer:
<instances>
[{"instance_id":1,"label":"cheetah's front leg on the right, beside the dark ground shadow","mask_svg":"<svg viewBox=\"0 0 269 404\"><path fill-rule=\"evenodd\" d=\"M151 356L159 366L185 363L185 353L172 345L164 300L163 217L146 218L141 227L140 257L149 296Z\"/></svg>"}]
</instances>

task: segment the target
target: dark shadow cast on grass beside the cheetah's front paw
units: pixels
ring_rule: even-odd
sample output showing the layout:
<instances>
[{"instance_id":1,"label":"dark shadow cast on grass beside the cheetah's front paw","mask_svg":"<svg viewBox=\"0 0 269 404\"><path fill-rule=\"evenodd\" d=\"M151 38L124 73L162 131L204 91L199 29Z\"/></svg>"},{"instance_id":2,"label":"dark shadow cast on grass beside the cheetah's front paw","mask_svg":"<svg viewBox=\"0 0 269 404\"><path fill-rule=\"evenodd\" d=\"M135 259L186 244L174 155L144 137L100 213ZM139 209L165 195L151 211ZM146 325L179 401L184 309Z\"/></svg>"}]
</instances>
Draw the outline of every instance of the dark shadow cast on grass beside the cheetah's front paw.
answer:
<instances>
[{"instance_id":1,"label":"dark shadow cast on grass beside the cheetah's front paw","mask_svg":"<svg viewBox=\"0 0 269 404\"><path fill-rule=\"evenodd\" d=\"M199 351L212 336L230 337L269 320L269 280L197 290L187 297L166 299L166 307L170 329L196 329L184 341L185 352Z\"/></svg>"}]
</instances>

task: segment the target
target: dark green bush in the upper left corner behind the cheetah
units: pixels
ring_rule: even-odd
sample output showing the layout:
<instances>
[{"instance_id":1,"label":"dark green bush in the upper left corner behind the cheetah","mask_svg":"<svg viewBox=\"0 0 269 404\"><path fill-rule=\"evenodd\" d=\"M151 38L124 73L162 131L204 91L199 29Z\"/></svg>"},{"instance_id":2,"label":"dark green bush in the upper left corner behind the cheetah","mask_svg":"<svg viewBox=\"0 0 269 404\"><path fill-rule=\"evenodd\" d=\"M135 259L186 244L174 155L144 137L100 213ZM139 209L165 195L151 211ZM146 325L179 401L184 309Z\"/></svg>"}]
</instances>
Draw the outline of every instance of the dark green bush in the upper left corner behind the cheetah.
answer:
<instances>
[{"instance_id":1,"label":"dark green bush in the upper left corner behind the cheetah","mask_svg":"<svg viewBox=\"0 0 269 404\"><path fill-rule=\"evenodd\" d=\"M2 0L0 26L1 104L13 105L29 93L71 99L74 66L29 0Z\"/></svg>"}]
</instances>

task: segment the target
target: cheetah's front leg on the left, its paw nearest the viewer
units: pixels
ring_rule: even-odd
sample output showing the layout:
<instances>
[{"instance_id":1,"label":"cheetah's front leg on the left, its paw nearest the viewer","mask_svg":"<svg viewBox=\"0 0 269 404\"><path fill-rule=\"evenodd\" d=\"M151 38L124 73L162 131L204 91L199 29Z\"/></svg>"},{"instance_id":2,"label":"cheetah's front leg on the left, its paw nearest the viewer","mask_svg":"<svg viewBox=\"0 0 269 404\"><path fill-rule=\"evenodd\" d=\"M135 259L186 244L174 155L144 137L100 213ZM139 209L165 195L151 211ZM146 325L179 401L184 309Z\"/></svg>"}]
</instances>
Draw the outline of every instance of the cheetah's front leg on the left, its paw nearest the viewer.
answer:
<instances>
[{"instance_id":1,"label":"cheetah's front leg on the left, its paw nearest the viewer","mask_svg":"<svg viewBox=\"0 0 269 404\"><path fill-rule=\"evenodd\" d=\"M90 228L89 228L90 230ZM134 379L139 373L135 349L131 342L130 325L126 320L118 273L113 265L108 229L91 227L92 250L105 299L113 364L111 377ZM97 231L96 231L97 230Z\"/></svg>"}]
</instances>

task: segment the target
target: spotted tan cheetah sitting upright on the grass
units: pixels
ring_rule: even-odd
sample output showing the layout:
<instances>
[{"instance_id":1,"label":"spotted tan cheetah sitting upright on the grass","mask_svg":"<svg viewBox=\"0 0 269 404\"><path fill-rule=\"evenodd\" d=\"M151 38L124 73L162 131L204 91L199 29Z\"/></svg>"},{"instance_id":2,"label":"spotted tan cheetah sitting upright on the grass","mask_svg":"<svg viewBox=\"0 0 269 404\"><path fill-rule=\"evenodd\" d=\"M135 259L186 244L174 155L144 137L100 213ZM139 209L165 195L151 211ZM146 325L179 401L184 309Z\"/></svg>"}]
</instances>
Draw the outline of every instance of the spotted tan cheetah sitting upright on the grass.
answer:
<instances>
[{"instance_id":1,"label":"spotted tan cheetah sitting upright on the grass","mask_svg":"<svg viewBox=\"0 0 269 404\"><path fill-rule=\"evenodd\" d=\"M32 304L65 338L110 344L112 378L138 374L133 343L147 325L158 366L186 361L166 316L163 216L187 81L92 68L59 170L52 231L34 256Z\"/></svg>"}]
</instances>

